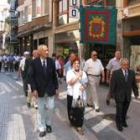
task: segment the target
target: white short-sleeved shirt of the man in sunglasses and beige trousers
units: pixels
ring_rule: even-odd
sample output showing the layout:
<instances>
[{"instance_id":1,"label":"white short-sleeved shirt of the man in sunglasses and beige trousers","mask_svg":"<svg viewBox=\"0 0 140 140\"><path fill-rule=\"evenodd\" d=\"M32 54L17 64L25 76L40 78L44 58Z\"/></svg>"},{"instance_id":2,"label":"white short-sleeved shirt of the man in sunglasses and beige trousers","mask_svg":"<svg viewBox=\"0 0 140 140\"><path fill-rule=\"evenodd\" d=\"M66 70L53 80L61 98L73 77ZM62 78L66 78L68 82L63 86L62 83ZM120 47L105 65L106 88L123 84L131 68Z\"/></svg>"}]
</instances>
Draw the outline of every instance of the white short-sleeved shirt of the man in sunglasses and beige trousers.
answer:
<instances>
[{"instance_id":1,"label":"white short-sleeved shirt of the man in sunglasses and beige trousers","mask_svg":"<svg viewBox=\"0 0 140 140\"><path fill-rule=\"evenodd\" d=\"M99 59L94 61L92 58L90 58L86 61L83 70L89 75L100 75L104 70L104 67Z\"/></svg>"}]
</instances>

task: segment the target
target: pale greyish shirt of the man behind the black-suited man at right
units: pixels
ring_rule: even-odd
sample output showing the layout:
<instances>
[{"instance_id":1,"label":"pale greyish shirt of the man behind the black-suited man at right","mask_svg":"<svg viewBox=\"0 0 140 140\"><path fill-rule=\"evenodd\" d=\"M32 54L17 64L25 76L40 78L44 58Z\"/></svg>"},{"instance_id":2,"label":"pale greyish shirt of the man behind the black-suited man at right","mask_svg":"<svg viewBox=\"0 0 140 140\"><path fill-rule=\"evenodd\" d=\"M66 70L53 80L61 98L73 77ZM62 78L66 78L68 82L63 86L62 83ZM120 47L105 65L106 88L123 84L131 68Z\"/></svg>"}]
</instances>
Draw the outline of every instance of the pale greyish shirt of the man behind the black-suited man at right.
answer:
<instances>
[{"instance_id":1,"label":"pale greyish shirt of the man behind the black-suited man at right","mask_svg":"<svg viewBox=\"0 0 140 140\"><path fill-rule=\"evenodd\" d=\"M120 60L117 60L116 57L110 59L110 61L108 62L106 66L106 69L110 71L110 74L112 74L114 70L117 70L120 68L121 68Z\"/></svg>"}]
</instances>

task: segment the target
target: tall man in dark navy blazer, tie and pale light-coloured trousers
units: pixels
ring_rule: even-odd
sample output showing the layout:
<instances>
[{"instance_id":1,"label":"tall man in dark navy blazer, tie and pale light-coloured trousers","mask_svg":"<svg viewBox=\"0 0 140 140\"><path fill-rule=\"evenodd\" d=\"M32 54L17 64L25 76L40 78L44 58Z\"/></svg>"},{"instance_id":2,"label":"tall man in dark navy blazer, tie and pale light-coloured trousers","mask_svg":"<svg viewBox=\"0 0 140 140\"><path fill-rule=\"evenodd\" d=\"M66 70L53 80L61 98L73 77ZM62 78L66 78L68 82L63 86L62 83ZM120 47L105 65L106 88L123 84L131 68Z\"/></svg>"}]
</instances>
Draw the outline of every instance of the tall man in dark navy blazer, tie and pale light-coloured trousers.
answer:
<instances>
[{"instance_id":1,"label":"tall man in dark navy blazer, tie and pale light-coloured trousers","mask_svg":"<svg viewBox=\"0 0 140 140\"><path fill-rule=\"evenodd\" d=\"M38 101L39 136L43 137L46 135L46 131L52 132L54 95L58 95L58 82L55 63L52 58L48 57L48 47L40 45L38 53L40 57L32 60L29 75L33 95Z\"/></svg>"}]
</instances>

